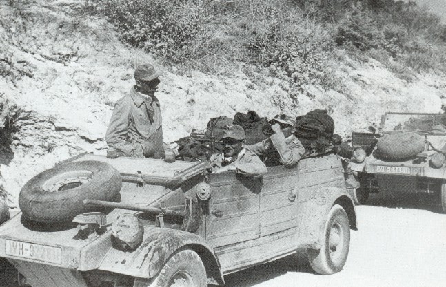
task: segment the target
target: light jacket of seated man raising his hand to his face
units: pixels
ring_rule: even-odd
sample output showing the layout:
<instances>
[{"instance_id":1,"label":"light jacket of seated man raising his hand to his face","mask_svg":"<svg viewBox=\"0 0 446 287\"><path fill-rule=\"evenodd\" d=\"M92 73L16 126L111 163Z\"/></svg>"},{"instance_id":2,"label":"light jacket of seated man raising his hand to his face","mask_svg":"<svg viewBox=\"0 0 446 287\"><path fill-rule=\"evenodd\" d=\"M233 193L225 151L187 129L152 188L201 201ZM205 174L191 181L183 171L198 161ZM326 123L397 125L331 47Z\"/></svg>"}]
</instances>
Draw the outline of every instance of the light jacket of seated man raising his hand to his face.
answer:
<instances>
[{"instance_id":1,"label":"light jacket of seated man raising his hand to his face","mask_svg":"<svg viewBox=\"0 0 446 287\"><path fill-rule=\"evenodd\" d=\"M266 157L265 160L267 160L268 154L277 151L279 160L286 167L296 164L305 153L305 147L296 136L291 135L285 138L283 133L272 134L270 138L255 145L248 145L246 149L257 156Z\"/></svg>"}]
</instances>

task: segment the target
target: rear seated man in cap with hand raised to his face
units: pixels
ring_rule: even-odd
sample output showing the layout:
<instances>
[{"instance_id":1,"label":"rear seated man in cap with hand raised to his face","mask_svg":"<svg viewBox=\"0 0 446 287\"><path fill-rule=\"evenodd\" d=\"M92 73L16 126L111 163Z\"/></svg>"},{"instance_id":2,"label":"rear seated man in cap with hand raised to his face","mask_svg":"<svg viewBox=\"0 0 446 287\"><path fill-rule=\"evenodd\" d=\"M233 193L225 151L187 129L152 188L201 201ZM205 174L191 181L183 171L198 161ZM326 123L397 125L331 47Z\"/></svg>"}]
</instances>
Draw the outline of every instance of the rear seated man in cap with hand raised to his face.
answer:
<instances>
[{"instance_id":1,"label":"rear seated man in cap with hand raised to his face","mask_svg":"<svg viewBox=\"0 0 446 287\"><path fill-rule=\"evenodd\" d=\"M271 129L273 134L270 138L249 145L246 149L263 157L263 161L270 165L278 163L278 160L285 167L296 164L305 153L302 143L294 136L296 119L283 114L277 115L272 119Z\"/></svg>"}]
</instances>

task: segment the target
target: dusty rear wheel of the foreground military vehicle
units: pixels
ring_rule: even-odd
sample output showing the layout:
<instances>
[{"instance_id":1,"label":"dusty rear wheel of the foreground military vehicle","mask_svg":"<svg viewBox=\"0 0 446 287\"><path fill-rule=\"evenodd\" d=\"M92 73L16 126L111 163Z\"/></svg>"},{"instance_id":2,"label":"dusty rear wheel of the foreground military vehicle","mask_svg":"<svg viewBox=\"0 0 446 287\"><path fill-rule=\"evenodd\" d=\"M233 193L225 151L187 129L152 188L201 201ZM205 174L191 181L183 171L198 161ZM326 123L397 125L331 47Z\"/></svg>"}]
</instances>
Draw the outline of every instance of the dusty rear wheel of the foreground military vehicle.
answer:
<instances>
[{"instance_id":1,"label":"dusty rear wheel of the foreground military vehicle","mask_svg":"<svg viewBox=\"0 0 446 287\"><path fill-rule=\"evenodd\" d=\"M342 270L350 246L350 224L345 210L335 204L328 213L321 249L307 248L310 265L316 273L328 275Z\"/></svg>"}]
</instances>

